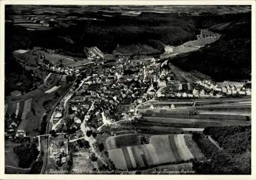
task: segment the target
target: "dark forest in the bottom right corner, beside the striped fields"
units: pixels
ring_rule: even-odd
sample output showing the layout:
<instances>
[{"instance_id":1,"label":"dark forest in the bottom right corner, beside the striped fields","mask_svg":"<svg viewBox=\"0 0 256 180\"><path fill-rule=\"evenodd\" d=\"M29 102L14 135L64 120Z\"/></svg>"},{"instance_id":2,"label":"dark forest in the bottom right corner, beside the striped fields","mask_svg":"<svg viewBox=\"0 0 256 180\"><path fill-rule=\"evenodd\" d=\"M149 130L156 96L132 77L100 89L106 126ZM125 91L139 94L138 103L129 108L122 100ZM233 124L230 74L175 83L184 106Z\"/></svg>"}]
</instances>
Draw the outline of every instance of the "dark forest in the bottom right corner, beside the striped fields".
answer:
<instances>
[{"instance_id":1,"label":"dark forest in the bottom right corner, beside the striped fields","mask_svg":"<svg viewBox=\"0 0 256 180\"><path fill-rule=\"evenodd\" d=\"M251 173L251 126L206 127L204 134L215 139L223 149L207 136L193 133L193 140L207 158L193 163L198 174Z\"/></svg>"}]
</instances>

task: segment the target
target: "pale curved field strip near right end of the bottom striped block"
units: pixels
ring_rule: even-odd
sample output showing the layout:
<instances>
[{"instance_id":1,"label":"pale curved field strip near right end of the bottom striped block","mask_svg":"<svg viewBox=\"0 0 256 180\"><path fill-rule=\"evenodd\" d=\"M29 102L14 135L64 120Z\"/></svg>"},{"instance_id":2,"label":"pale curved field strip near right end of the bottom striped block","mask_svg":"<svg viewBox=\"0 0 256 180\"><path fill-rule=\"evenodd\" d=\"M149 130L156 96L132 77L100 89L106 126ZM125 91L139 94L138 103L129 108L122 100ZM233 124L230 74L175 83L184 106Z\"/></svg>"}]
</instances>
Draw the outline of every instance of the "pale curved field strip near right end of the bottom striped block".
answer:
<instances>
[{"instance_id":1,"label":"pale curved field strip near right end of the bottom striped block","mask_svg":"<svg viewBox=\"0 0 256 180\"><path fill-rule=\"evenodd\" d=\"M194 158L190 150L187 148L184 140L184 134L175 135L175 142L183 160Z\"/></svg>"}]
</instances>

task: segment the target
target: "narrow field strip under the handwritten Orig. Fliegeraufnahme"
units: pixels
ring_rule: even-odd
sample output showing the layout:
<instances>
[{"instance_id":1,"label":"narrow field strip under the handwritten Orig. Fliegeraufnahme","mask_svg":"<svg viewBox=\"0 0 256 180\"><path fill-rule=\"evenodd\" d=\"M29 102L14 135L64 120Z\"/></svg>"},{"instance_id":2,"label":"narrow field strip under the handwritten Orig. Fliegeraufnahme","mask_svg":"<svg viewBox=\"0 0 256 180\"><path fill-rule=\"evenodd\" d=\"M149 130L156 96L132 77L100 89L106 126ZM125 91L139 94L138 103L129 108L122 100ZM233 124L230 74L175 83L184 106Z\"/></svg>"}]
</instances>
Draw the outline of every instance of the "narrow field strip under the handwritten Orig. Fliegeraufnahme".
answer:
<instances>
[{"instance_id":1,"label":"narrow field strip under the handwritten Orig. Fliegeraufnahme","mask_svg":"<svg viewBox=\"0 0 256 180\"><path fill-rule=\"evenodd\" d=\"M193 170L193 169L192 169L192 165L193 165L192 163L183 163L183 164L174 164L174 165L158 166L157 168L142 170L142 171L141 171L141 174L158 174L157 171L161 171L161 172L159 173L159 175L160 175L160 174L165 174L165 175L167 175L168 173L164 173L164 172L163 172L164 170L167 170L167 171L173 171L173 172L170 172L170 175L171 175L171 174L176 174L175 171Z\"/></svg>"}]
</instances>

